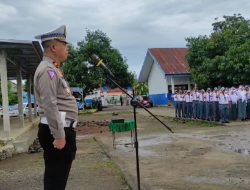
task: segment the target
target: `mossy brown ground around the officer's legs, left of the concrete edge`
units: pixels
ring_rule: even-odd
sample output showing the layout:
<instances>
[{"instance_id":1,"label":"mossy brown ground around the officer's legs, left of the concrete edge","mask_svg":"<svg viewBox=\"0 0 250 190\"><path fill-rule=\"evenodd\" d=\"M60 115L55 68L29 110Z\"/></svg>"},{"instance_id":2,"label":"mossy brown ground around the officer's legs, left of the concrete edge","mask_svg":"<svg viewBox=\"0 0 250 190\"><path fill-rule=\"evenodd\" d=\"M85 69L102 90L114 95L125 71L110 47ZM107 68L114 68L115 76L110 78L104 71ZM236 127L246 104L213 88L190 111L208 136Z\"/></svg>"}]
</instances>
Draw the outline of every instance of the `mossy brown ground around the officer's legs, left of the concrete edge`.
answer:
<instances>
[{"instance_id":1,"label":"mossy brown ground around the officer's legs, left of the concrete edge","mask_svg":"<svg viewBox=\"0 0 250 190\"><path fill-rule=\"evenodd\" d=\"M15 140L18 147L26 148L27 142L36 138L33 126ZM26 142L26 143L24 143ZM119 166L103 151L93 135L77 135L77 155L72 164L67 190L130 190ZM0 161L0 190L43 189L43 154L22 153Z\"/></svg>"}]
</instances>

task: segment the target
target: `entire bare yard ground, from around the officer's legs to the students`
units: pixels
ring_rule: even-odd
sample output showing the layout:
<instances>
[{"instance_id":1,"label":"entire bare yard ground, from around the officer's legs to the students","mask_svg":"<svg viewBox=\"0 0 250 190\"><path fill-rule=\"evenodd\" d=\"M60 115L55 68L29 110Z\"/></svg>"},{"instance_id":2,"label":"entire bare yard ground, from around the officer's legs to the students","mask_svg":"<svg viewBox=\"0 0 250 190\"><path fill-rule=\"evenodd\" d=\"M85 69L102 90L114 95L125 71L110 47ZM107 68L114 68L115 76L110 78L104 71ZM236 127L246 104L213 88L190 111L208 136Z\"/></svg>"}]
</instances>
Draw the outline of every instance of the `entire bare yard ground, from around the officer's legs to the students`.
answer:
<instances>
[{"instance_id":1,"label":"entire bare yard ground, from around the officer's legs to the students","mask_svg":"<svg viewBox=\"0 0 250 190\"><path fill-rule=\"evenodd\" d=\"M217 125L176 120L170 117L173 116L171 108L149 110L171 127L174 134L143 109L137 109L141 189L249 189L249 122ZM133 119L132 109L115 106L79 117L81 121L121 118ZM78 154L73 164L68 189L121 190L129 189L127 183L132 189L137 189L135 149L126 144L130 142L130 133L117 133L116 137L118 145L114 149L112 134L101 128L99 132L95 130L94 134L78 134ZM22 154L2 161L0 189L22 189L21 187L27 187L26 183L30 189L41 189L42 168L40 153Z\"/></svg>"}]
</instances>

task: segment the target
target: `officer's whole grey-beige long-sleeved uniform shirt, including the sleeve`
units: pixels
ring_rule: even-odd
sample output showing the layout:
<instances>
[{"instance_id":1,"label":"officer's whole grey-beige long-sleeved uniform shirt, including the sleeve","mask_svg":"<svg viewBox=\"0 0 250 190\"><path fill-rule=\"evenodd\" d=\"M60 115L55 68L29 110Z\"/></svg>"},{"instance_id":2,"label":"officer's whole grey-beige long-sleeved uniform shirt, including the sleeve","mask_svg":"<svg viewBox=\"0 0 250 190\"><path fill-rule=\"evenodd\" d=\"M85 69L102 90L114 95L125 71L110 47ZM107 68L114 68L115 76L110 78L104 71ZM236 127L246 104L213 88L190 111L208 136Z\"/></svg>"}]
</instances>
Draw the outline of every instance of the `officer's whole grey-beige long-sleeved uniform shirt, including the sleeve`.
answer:
<instances>
[{"instance_id":1,"label":"officer's whole grey-beige long-sleeved uniform shirt, including the sleeve","mask_svg":"<svg viewBox=\"0 0 250 190\"><path fill-rule=\"evenodd\" d=\"M60 112L66 112L65 119L77 121L78 109L67 82L49 57L43 57L37 67L34 90L40 116L46 117L54 138L64 138Z\"/></svg>"}]
</instances>

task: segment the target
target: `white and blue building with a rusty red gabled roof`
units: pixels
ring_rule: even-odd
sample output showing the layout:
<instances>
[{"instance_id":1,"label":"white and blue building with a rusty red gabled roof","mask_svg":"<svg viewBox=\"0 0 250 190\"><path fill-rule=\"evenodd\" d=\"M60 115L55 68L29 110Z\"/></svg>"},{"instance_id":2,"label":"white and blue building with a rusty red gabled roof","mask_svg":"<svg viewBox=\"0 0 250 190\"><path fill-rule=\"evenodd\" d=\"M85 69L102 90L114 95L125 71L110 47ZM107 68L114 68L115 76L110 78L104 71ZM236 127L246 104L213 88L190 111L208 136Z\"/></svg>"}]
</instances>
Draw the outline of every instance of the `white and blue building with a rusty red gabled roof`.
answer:
<instances>
[{"instance_id":1,"label":"white and blue building with a rusty red gabled roof","mask_svg":"<svg viewBox=\"0 0 250 190\"><path fill-rule=\"evenodd\" d=\"M149 96L155 105L167 105L172 92L194 86L187 51L187 48L148 49L138 81L148 84Z\"/></svg>"}]
</instances>

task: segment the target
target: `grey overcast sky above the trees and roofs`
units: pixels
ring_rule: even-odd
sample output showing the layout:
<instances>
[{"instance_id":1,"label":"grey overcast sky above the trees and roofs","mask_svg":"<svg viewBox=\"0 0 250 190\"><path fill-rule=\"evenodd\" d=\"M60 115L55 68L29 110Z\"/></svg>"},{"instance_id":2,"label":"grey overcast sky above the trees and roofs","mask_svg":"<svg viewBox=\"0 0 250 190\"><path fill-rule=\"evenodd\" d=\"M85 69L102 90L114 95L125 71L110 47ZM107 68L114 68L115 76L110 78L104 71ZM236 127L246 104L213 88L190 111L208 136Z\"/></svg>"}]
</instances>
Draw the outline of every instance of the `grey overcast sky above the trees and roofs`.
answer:
<instances>
[{"instance_id":1,"label":"grey overcast sky above the trees and roofs","mask_svg":"<svg viewBox=\"0 0 250 190\"><path fill-rule=\"evenodd\" d=\"M137 74L148 48L185 47L223 15L250 19L249 0L0 0L0 10L0 39L34 40L65 24L76 45L100 29Z\"/></svg>"}]
</instances>

